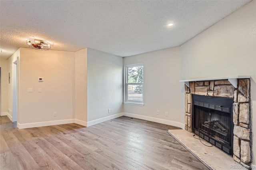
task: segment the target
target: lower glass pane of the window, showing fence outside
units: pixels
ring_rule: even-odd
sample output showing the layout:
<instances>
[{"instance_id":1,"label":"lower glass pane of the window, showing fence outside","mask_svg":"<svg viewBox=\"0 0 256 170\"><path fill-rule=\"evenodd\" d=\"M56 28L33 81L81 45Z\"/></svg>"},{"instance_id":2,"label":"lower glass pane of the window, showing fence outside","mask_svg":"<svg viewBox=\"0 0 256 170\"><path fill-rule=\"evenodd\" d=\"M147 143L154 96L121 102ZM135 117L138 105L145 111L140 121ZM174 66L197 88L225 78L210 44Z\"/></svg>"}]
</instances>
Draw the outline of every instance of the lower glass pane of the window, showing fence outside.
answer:
<instances>
[{"instance_id":1,"label":"lower glass pane of the window, showing fence outside","mask_svg":"<svg viewBox=\"0 0 256 170\"><path fill-rule=\"evenodd\" d=\"M128 100L143 101L142 100L142 85L128 85Z\"/></svg>"}]
</instances>

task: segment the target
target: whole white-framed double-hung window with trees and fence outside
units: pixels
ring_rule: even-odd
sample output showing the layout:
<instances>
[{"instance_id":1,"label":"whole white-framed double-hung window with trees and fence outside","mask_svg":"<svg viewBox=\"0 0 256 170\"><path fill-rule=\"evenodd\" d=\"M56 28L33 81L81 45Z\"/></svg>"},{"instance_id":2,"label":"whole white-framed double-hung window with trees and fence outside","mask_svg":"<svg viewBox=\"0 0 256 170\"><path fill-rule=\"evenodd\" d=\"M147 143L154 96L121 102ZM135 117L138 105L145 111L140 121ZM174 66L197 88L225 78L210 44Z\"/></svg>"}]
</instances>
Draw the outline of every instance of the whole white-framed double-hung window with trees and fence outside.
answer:
<instances>
[{"instance_id":1,"label":"whole white-framed double-hung window with trees and fence outside","mask_svg":"<svg viewBox=\"0 0 256 170\"><path fill-rule=\"evenodd\" d=\"M126 104L143 104L143 64L125 67L125 102Z\"/></svg>"}]
</instances>

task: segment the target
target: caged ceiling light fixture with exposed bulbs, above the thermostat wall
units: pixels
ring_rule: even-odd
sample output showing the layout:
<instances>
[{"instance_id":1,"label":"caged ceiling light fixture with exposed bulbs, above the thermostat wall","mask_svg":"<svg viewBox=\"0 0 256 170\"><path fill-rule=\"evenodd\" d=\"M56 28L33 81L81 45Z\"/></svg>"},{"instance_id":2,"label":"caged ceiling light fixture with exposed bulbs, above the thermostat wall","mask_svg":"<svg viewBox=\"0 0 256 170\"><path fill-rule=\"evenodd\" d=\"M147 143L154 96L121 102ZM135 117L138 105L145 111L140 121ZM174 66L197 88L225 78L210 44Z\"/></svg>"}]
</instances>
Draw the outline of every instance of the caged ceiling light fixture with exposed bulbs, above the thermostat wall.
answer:
<instances>
[{"instance_id":1,"label":"caged ceiling light fixture with exposed bulbs, above the thermostat wall","mask_svg":"<svg viewBox=\"0 0 256 170\"><path fill-rule=\"evenodd\" d=\"M51 44L44 40L29 39L26 43L32 49L47 51L51 48Z\"/></svg>"}]
</instances>

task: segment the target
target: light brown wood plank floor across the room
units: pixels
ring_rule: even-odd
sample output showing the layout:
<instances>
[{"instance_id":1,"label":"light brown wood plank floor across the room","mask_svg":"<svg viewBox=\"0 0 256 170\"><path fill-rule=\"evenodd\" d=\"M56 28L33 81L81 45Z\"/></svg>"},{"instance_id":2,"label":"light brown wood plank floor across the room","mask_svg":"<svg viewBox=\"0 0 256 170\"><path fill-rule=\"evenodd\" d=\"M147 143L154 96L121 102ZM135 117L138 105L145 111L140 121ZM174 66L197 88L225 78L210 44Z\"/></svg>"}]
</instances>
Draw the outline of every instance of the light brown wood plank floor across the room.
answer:
<instances>
[{"instance_id":1,"label":"light brown wood plank floor across the room","mask_svg":"<svg viewBox=\"0 0 256 170\"><path fill-rule=\"evenodd\" d=\"M0 170L207 169L167 134L176 127L119 117L18 129L0 117Z\"/></svg>"}]
</instances>

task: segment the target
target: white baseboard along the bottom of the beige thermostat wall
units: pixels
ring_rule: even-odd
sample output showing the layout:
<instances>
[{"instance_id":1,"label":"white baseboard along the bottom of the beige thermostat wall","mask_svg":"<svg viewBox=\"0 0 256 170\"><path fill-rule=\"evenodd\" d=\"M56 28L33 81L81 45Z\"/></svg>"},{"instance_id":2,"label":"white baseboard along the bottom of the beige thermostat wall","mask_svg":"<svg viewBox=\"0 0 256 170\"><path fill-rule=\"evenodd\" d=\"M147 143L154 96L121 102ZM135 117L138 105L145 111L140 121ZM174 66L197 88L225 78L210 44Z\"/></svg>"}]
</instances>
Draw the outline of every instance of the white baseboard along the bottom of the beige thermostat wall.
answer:
<instances>
[{"instance_id":1,"label":"white baseboard along the bottom of the beige thermostat wall","mask_svg":"<svg viewBox=\"0 0 256 170\"><path fill-rule=\"evenodd\" d=\"M62 125L62 124L68 124L68 123L75 123L75 119L66 119L66 120L48 121L48 122L37 122L37 123L24 123L24 124L17 123L17 127L18 127L19 129L22 129L22 128L32 128L32 127L45 127L45 126L52 126L52 125Z\"/></svg>"}]
</instances>

